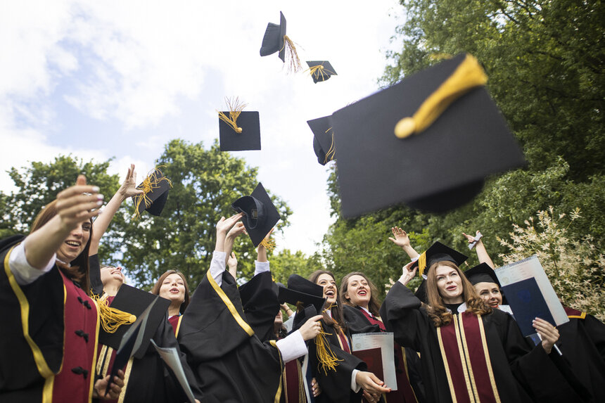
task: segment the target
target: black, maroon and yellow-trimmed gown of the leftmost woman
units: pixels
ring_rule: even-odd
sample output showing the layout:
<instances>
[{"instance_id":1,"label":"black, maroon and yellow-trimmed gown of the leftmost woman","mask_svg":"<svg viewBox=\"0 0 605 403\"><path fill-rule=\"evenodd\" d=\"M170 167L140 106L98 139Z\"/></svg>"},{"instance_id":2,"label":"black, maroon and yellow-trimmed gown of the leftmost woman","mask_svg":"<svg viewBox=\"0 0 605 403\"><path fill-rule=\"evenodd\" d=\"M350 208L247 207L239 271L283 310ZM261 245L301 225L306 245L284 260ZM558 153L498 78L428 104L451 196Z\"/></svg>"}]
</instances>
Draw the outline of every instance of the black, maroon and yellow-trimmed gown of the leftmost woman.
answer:
<instances>
[{"instance_id":1,"label":"black, maroon and yellow-trimmed gown of the leftmost woman","mask_svg":"<svg viewBox=\"0 0 605 403\"><path fill-rule=\"evenodd\" d=\"M20 286L8 257L23 236L0 242L0 402L90 402L98 310L58 267Z\"/></svg>"}]
</instances>

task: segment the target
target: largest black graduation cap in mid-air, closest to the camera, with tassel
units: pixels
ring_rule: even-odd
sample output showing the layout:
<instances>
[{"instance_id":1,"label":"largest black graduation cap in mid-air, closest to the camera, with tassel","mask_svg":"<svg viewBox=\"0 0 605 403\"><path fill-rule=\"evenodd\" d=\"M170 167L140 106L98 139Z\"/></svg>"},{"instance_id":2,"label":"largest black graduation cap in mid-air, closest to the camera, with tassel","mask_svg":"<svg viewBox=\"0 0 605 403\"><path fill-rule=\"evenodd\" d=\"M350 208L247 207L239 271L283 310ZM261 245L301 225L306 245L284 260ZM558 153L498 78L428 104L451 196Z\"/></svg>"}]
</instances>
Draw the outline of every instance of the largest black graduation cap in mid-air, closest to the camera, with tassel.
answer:
<instances>
[{"instance_id":1,"label":"largest black graduation cap in mid-air, closest to the camera, with tassel","mask_svg":"<svg viewBox=\"0 0 605 403\"><path fill-rule=\"evenodd\" d=\"M462 54L333 113L343 217L398 203L445 212L489 174L523 165L483 84L483 69Z\"/></svg>"}]
</instances>

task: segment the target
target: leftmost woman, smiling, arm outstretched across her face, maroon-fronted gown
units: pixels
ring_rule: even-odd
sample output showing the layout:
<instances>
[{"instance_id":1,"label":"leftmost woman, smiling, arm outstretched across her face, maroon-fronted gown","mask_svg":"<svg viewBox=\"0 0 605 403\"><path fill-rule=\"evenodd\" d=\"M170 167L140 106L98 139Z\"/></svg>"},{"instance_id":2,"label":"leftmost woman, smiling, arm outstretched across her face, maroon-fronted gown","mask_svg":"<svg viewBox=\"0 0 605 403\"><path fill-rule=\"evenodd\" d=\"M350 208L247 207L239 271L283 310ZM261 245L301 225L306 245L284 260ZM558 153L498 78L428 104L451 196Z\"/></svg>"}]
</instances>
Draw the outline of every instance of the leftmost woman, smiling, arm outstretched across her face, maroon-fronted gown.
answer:
<instances>
[{"instance_id":1,"label":"leftmost woman, smiling, arm outstretched across her face, maroon-fronted gown","mask_svg":"<svg viewBox=\"0 0 605 403\"><path fill-rule=\"evenodd\" d=\"M36 217L30 235L0 244L0 400L89 402L119 395L124 374L96 379L98 310L89 298L91 218L103 203L80 175Z\"/></svg>"}]
</instances>

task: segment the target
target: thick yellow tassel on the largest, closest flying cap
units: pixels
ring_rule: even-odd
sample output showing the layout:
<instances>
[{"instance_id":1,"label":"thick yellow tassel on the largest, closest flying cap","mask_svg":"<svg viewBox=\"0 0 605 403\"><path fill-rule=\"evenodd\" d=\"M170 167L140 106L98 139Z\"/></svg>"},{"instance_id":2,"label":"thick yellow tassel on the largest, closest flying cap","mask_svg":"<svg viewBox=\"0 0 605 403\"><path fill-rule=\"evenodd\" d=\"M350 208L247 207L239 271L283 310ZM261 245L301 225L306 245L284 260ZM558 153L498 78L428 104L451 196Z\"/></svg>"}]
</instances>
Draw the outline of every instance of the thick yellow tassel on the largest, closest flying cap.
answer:
<instances>
[{"instance_id":1,"label":"thick yellow tassel on the largest, closest flying cap","mask_svg":"<svg viewBox=\"0 0 605 403\"><path fill-rule=\"evenodd\" d=\"M404 117L395 124L395 136L403 139L410 134L423 132L452 102L487 82L488 76L485 75L477 59L466 55L452 75L420 105L414 116Z\"/></svg>"}]
</instances>

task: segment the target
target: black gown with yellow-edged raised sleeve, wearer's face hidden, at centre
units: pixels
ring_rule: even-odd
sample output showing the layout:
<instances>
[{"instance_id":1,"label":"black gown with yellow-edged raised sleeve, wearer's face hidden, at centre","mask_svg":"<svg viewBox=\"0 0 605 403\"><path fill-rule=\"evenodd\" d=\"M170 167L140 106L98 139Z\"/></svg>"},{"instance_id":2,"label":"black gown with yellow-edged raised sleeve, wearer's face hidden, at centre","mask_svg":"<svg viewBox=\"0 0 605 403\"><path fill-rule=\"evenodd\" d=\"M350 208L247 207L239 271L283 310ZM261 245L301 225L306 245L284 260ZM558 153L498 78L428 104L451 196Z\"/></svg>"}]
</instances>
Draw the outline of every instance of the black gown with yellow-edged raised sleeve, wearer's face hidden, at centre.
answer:
<instances>
[{"instance_id":1,"label":"black gown with yellow-edged raised sleeve, wearer's face hidden, at centre","mask_svg":"<svg viewBox=\"0 0 605 403\"><path fill-rule=\"evenodd\" d=\"M279 399L279 350L254 334L228 271L220 287L210 270L204 276L181 320L179 344L204 395L223 403Z\"/></svg>"}]
</instances>

